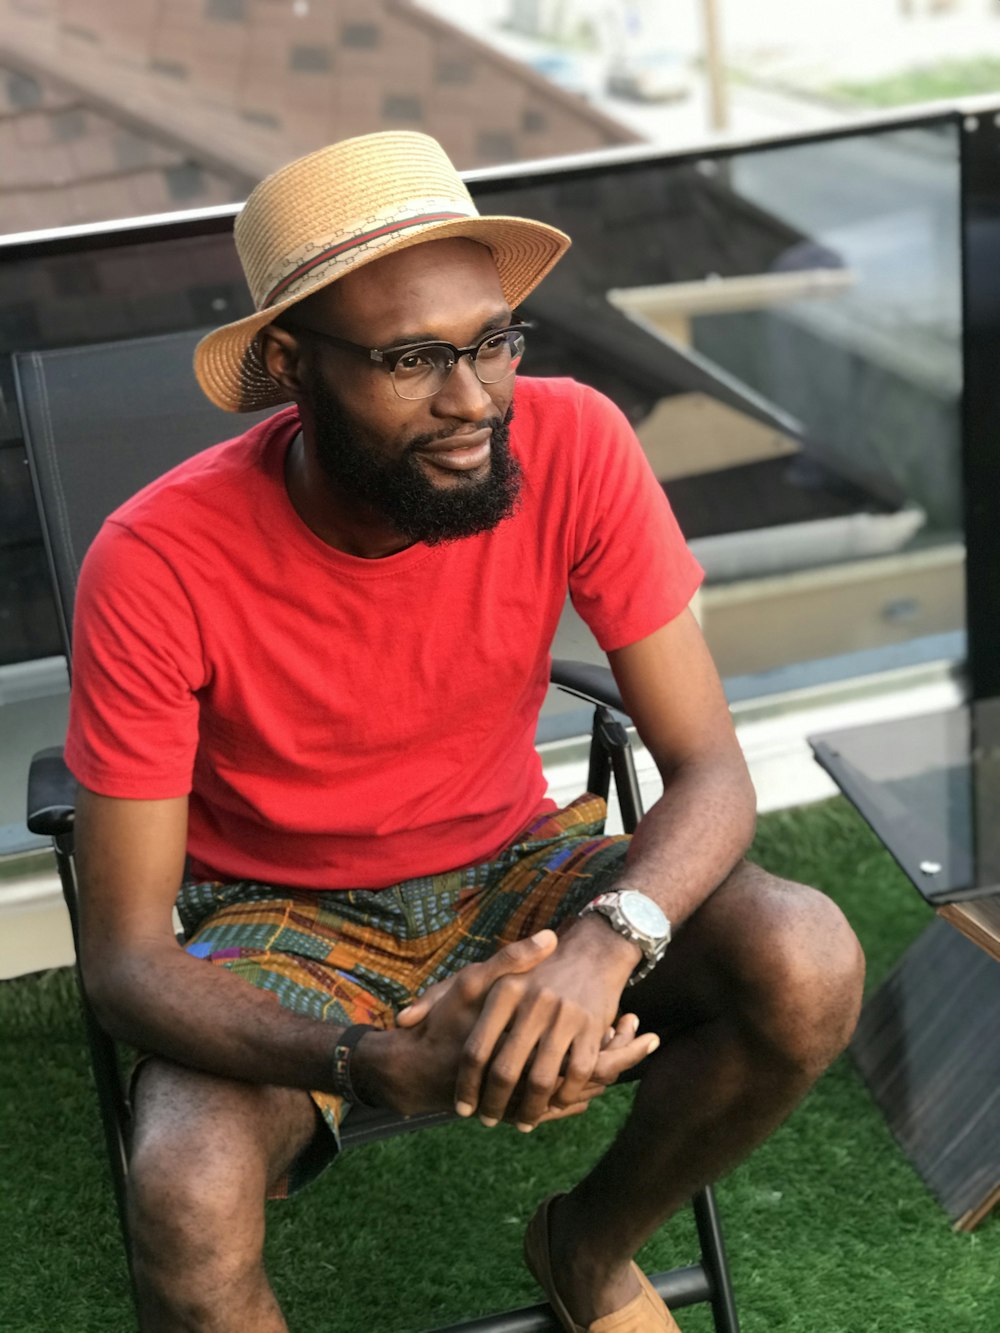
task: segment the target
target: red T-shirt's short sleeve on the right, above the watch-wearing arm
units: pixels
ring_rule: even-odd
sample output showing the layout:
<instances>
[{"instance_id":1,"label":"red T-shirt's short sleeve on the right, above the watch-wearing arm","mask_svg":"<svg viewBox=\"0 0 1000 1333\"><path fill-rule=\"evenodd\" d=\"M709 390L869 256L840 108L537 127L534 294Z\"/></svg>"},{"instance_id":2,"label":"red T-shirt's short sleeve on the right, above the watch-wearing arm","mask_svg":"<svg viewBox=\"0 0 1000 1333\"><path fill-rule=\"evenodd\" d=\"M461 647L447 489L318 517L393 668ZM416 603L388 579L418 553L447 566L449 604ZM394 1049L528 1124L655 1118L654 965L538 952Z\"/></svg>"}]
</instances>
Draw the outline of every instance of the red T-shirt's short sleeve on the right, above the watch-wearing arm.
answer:
<instances>
[{"instance_id":1,"label":"red T-shirt's short sleeve on the right, above the watch-wearing arm","mask_svg":"<svg viewBox=\"0 0 1000 1333\"><path fill-rule=\"evenodd\" d=\"M624 413L593 389L580 412L569 593L611 652L679 616L704 576Z\"/></svg>"}]
</instances>

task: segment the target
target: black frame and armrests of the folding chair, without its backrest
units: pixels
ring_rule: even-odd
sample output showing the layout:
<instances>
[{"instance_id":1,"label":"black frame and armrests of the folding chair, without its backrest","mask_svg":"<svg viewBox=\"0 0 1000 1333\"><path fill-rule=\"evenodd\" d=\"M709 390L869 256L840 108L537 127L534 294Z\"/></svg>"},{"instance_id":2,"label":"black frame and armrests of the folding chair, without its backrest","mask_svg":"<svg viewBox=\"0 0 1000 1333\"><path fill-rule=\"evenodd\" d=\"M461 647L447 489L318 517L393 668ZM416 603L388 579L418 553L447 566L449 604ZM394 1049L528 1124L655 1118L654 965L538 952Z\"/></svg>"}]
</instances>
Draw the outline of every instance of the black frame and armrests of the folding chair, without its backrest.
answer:
<instances>
[{"instance_id":1,"label":"black frame and armrests of the folding chair, without its backrest","mask_svg":"<svg viewBox=\"0 0 1000 1333\"><path fill-rule=\"evenodd\" d=\"M613 778L623 826L625 832L632 832L641 818L643 806L628 733L620 717L616 716L621 713L621 697L611 672L604 666L555 661L552 664L552 681L567 693L595 705L587 788L607 800ZM28 828L33 833L52 838L56 868L69 912L79 960L79 888L73 854L75 798L76 784L63 762L61 748L40 750L32 762L28 782ZM79 961L76 976L108 1165L135 1297L132 1248L128 1232L131 1112L116 1044L101 1026L87 997ZM344 1124L341 1152L400 1133L443 1125L452 1118L448 1113L403 1118L391 1112L356 1108ZM649 1280L672 1309L708 1302L712 1306L716 1333L739 1333L729 1265L712 1189L705 1186L700 1190L693 1197L692 1206L701 1252L699 1262L651 1274ZM451 1324L435 1330L435 1333L552 1333L557 1328L549 1305L540 1304Z\"/></svg>"}]
</instances>

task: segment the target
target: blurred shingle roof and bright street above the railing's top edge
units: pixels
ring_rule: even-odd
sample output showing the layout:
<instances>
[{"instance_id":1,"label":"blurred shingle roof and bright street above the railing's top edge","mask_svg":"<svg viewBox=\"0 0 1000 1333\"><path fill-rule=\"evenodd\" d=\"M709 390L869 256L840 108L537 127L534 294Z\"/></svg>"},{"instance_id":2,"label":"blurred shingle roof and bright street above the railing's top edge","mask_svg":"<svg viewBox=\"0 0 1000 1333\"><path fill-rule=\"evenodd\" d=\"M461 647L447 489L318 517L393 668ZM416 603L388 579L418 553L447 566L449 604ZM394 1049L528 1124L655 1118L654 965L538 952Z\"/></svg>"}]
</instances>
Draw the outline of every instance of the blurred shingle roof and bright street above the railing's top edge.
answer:
<instances>
[{"instance_id":1,"label":"blurred shingle roof and bright street above the railing's top edge","mask_svg":"<svg viewBox=\"0 0 1000 1333\"><path fill-rule=\"evenodd\" d=\"M483 168L999 88L997 0L0 0L0 233L237 201L389 127Z\"/></svg>"}]
</instances>

